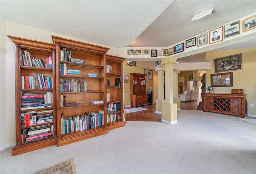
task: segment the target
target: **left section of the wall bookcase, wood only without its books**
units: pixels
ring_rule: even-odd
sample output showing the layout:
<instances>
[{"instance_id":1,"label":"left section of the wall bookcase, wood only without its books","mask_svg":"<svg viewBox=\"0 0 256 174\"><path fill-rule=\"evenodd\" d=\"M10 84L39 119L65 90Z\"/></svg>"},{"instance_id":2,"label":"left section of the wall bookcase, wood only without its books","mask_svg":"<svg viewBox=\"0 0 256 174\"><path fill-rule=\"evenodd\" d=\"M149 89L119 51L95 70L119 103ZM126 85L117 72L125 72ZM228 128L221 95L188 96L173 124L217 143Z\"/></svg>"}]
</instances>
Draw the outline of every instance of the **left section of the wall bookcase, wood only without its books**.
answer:
<instances>
[{"instance_id":1,"label":"left section of the wall bookcase, wood only without its books","mask_svg":"<svg viewBox=\"0 0 256 174\"><path fill-rule=\"evenodd\" d=\"M8 36L8 35L7 35ZM47 146L52 146L57 143L56 131L56 84L55 84L55 45L36 40L29 40L14 36L8 36L14 43L15 48L15 119L16 119L16 146L12 150L12 155L22 154L32 150L37 150ZM52 57L52 68L41 68L34 66L24 66L22 62L22 54L28 51L34 58L40 58L46 64L46 58ZM52 88L26 88L23 89L21 85L22 76L33 76L34 74L42 73L44 77L48 76L52 80ZM52 106L40 109L26 109L22 108L21 96L23 93L46 93L52 92ZM29 111L38 110L53 110L53 121L43 124L30 124L31 126L23 126L21 114ZM44 140L37 140L34 142L24 142L22 132L25 129L34 128L36 126L51 125L52 134Z\"/></svg>"}]
</instances>

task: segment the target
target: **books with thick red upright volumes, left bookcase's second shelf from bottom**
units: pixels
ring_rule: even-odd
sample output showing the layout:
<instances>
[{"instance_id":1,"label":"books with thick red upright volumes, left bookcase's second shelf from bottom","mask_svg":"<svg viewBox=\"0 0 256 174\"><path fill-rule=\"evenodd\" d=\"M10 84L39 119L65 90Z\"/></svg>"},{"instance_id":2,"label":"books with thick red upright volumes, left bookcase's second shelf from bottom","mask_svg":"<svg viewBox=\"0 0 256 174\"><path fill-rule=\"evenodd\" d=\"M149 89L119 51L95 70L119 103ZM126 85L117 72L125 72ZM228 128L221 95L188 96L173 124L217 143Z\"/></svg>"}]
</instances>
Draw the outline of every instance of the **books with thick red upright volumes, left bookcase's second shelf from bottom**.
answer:
<instances>
[{"instance_id":1,"label":"books with thick red upright volumes, left bookcase's second shelf from bottom","mask_svg":"<svg viewBox=\"0 0 256 174\"><path fill-rule=\"evenodd\" d=\"M43 112L40 112L38 110L22 112L20 114L21 127L53 122L53 110L42 110L42 111Z\"/></svg>"}]
</instances>

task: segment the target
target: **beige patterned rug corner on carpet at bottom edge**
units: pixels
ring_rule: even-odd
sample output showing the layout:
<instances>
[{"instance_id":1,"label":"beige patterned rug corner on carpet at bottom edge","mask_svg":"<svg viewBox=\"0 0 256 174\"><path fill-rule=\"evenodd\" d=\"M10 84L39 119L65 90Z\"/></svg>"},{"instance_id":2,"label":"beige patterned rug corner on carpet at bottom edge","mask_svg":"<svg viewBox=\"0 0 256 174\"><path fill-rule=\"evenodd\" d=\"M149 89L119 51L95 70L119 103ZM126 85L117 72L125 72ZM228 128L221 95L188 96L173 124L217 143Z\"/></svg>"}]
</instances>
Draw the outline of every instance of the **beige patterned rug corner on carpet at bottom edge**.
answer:
<instances>
[{"instance_id":1,"label":"beige patterned rug corner on carpet at bottom edge","mask_svg":"<svg viewBox=\"0 0 256 174\"><path fill-rule=\"evenodd\" d=\"M73 158L70 158L32 174L76 174L76 168Z\"/></svg>"}]
</instances>

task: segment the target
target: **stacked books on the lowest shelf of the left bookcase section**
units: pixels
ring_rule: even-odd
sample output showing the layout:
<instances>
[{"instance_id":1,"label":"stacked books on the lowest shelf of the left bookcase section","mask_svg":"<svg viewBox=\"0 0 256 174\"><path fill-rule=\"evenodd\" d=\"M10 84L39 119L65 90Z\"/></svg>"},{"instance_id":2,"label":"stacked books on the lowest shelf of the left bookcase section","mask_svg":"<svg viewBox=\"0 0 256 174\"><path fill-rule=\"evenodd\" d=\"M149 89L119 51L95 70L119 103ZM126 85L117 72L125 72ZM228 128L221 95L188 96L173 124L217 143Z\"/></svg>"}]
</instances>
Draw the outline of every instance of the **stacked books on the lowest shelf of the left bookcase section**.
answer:
<instances>
[{"instance_id":1,"label":"stacked books on the lowest shelf of the left bookcase section","mask_svg":"<svg viewBox=\"0 0 256 174\"><path fill-rule=\"evenodd\" d=\"M43 140L54 135L53 124L22 129L22 143Z\"/></svg>"}]
</instances>

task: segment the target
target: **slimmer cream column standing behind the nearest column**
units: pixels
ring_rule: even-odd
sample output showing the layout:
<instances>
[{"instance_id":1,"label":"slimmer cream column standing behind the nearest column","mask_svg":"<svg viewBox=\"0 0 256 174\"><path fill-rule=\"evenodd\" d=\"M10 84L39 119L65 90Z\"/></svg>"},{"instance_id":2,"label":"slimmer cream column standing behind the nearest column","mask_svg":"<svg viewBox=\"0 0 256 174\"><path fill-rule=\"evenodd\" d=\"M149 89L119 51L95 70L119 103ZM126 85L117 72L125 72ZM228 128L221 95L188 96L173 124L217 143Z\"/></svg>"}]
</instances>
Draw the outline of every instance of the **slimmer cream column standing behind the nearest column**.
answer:
<instances>
[{"instance_id":1,"label":"slimmer cream column standing behind the nearest column","mask_svg":"<svg viewBox=\"0 0 256 174\"><path fill-rule=\"evenodd\" d=\"M162 104L164 100L164 67L156 67L158 72L158 99L156 99L156 111L157 114L162 114Z\"/></svg>"}]
</instances>

